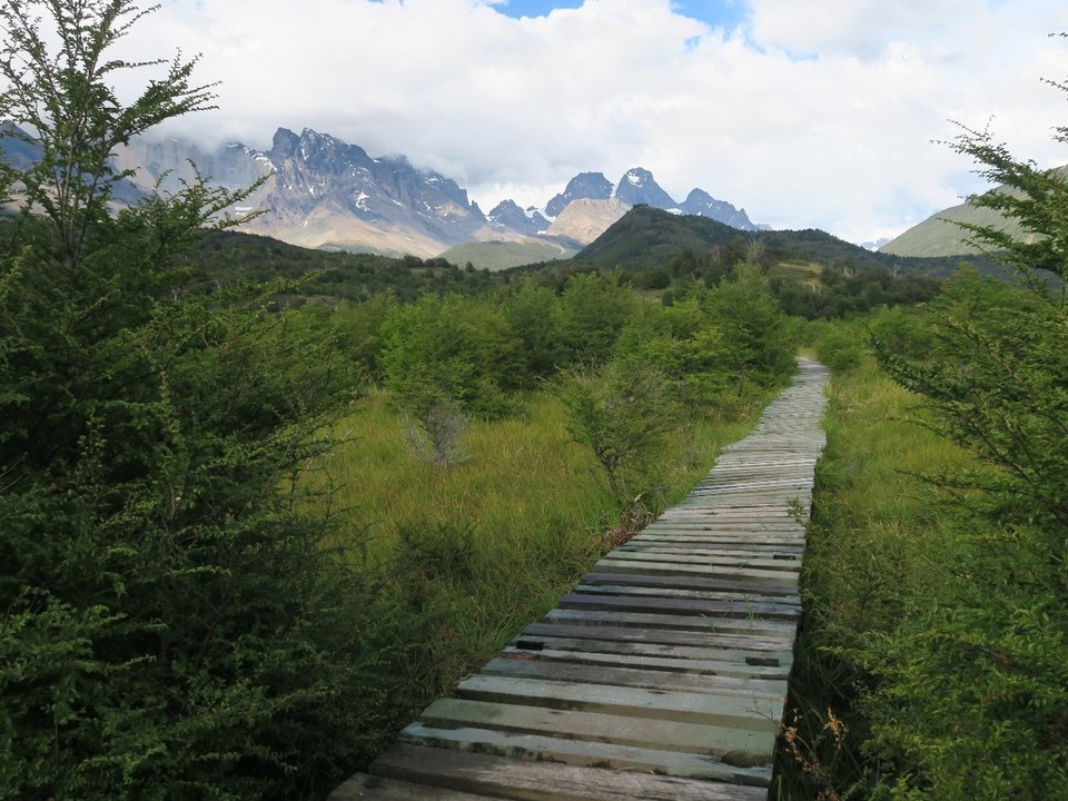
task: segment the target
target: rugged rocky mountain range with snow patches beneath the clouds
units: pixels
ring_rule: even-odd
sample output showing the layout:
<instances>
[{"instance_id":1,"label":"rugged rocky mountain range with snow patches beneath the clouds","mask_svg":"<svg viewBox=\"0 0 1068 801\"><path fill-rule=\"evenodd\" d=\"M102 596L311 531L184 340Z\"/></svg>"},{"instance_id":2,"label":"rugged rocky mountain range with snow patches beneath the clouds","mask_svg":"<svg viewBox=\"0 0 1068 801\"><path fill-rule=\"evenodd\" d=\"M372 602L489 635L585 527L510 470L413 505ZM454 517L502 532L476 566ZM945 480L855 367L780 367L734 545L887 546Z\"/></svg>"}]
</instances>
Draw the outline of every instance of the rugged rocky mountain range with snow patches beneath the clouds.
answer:
<instances>
[{"instance_id":1,"label":"rugged rocky mountain range with snow patches beneath the clouds","mask_svg":"<svg viewBox=\"0 0 1068 801\"><path fill-rule=\"evenodd\" d=\"M263 179L234 209L256 215L241 230L312 248L431 258L456 246L503 241L515 246L510 253L517 263L535 260L528 258L534 253L544 260L576 253L639 205L758 229L744 209L702 189L676 202L643 168L627 170L615 185L600 172L583 172L542 209L502 200L484 214L455 180L404 156L372 157L312 129L298 135L279 128L269 150L243 145L205 150L177 139L139 138L116 158L144 191L157 184L176 189L195 178L191 164L228 189Z\"/></svg>"}]
</instances>

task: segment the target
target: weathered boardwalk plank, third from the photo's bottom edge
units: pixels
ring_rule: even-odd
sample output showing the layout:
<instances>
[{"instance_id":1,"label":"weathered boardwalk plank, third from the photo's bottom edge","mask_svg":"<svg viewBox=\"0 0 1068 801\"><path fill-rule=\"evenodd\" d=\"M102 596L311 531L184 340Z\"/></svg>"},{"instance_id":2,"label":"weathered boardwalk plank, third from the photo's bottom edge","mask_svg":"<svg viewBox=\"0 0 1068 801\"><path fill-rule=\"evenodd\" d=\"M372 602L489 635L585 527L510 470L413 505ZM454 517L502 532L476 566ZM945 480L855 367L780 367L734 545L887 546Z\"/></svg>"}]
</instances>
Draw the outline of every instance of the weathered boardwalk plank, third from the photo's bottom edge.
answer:
<instances>
[{"instance_id":1,"label":"weathered boardwalk plank, third from the photo's bottom edge","mask_svg":"<svg viewBox=\"0 0 1068 801\"><path fill-rule=\"evenodd\" d=\"M454 748L459 751L560 762L568 765L666 773L686 779L709 779L754 787L768 787L771 783L771 767L744 768L726 764L706 754L568 740L544 734L517 734L474 728L435 729L422 723L412 723L400 732L399 740L413 745Z\"/></svg>"}]
</instances>

